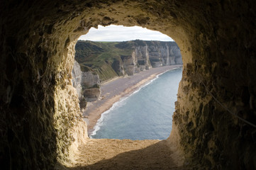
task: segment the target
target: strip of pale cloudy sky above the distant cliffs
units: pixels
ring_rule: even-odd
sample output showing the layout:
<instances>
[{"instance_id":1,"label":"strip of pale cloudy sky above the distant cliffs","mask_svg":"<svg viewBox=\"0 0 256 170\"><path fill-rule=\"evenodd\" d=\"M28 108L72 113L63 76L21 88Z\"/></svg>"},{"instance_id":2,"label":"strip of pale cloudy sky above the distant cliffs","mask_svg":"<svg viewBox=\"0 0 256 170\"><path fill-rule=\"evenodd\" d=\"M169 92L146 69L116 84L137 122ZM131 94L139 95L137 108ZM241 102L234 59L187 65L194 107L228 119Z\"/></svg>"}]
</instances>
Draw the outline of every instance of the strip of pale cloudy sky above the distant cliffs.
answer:
<instances>
[{"instance_id":1,"label":"strip of pale cloudy sky above the distant cliffs","mask_svg":"<svg viewBox=\"0 0 256 170\"><path fill-rule=\"evenodd\" d=\"M148 30L139 26L99 26L98 29L91 28L87 35L82 35L79 40L91 41L127 41L127 40L160 40L174 41L167 35L155 30Z\"/></svg>"}]
</instances>

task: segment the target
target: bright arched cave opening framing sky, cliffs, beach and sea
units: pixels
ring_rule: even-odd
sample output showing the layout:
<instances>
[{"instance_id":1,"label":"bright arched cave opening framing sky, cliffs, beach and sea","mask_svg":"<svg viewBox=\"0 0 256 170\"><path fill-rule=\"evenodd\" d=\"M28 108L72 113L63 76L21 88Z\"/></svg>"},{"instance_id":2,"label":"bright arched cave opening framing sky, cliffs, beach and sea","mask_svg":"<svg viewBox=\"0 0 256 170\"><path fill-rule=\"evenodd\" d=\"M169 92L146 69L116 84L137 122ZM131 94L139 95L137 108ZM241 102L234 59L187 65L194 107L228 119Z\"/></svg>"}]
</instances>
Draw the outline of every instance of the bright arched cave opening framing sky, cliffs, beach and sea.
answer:
<instances>
[{"instance_id":1,"label":"bright arched cave opening framing sky, cliffs, beach and sea","mask_svg":"<svg viewBox=\"0 0 256 170\"><path fill-rule=\"evenodd\" d=\"M169 137L182 77L180 69L172 70L182 67L179 47L172 38L138 26L98 26L80 36L75 50L72 84L79 94L79 106L87 122L89 137L133 140ZM155 70L145 73L149 69ZM172 73L165 73L170 70ZM156 78L157 82L150 84ZM146 90L148 84L155 87ZM144 94L140 90L147 92ZM137 92L135 96L143 97L134 97ZM161 104L147 100L149 97ZM110 118L111 115L115 116Z\"/></svg>"}]
</instances>

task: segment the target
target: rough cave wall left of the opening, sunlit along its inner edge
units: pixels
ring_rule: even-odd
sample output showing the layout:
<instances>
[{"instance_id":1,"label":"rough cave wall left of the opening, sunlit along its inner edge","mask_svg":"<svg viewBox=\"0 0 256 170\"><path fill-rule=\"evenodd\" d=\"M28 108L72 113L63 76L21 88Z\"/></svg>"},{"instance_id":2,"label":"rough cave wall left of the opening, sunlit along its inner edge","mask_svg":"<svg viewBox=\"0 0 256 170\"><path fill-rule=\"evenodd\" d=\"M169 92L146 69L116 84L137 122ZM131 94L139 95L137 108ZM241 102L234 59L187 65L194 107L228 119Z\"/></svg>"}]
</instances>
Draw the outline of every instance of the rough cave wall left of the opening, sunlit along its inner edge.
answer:
<instances>
[{"instance_id":1,"label":"rough cave wall left of the opening, sunlit along its inner edge","mask_svg":"<svg viewBox=\"0 0 256 170\"><path fill-rule=\"evenodd\" d=\"M57 1L1 2L4 169L53 169L57 160L68 164L77 144L87 138L71 84L77 36L69 35L72 26L62 27L71 16L56 14L55 5Z\"/></svg>"}]
</instances>

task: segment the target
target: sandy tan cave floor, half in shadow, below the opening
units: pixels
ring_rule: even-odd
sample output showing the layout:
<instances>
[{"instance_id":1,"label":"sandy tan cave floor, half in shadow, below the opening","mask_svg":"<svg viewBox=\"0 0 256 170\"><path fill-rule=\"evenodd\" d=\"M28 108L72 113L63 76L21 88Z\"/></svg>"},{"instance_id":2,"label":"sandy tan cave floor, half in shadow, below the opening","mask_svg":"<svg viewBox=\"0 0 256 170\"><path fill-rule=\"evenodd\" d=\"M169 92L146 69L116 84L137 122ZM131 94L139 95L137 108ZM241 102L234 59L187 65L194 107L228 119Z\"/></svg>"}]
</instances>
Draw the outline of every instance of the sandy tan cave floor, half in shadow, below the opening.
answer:
<instances>
[{"instance_id":1,"label":"sandy tan cave floor, half in shadow, below the opening","mask_svg":"<svg viewBox=\"0 0 256 170\"><path fill-rule=\"evenodd\" d=\"M166 140L90 139L79 152L68 169L182 169Z\"/></svg>"}]
</instances>

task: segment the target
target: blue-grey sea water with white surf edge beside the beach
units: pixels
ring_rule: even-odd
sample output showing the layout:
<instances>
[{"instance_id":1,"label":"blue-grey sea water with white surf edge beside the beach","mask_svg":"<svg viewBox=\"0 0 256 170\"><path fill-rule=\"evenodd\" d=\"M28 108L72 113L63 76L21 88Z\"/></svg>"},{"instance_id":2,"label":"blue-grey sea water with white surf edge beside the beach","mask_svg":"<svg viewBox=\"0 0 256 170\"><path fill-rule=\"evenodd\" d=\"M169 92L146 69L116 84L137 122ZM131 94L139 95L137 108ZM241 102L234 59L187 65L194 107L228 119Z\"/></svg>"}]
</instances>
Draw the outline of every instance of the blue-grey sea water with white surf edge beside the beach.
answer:
<instances>
[{"instance_id":1,"label":"blue-grey sea water with white surf edge beside the beach","mask_svg":"<svg viewBox=\"0 0 256 170\"><path fill-rule=\"evenodd\" d=\"M161 74L101 115L91 138L165 140L172 130L182 69Z\"/></svg>"}]
</instances>

